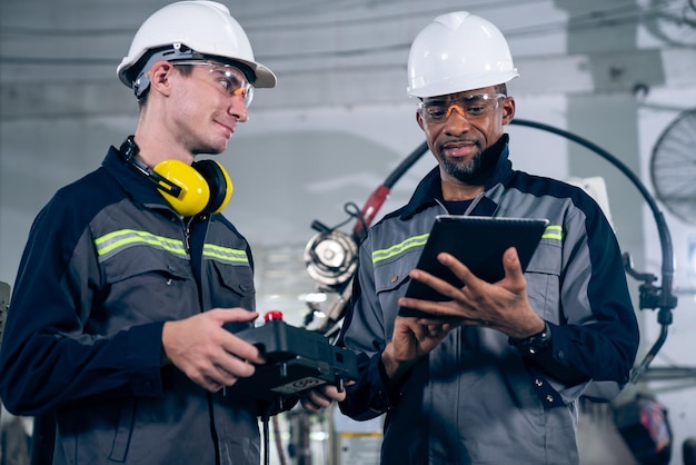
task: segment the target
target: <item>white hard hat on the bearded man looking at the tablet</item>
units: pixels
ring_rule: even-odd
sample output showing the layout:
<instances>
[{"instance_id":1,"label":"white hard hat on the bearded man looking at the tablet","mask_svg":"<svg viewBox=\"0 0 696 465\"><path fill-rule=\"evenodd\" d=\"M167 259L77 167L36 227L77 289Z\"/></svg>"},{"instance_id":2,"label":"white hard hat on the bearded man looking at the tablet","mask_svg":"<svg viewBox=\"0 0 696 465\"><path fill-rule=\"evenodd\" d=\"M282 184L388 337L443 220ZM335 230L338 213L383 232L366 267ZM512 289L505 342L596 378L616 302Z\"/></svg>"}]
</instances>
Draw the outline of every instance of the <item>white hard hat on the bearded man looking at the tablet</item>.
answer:
<instances>
[{"instance_id":1,"label":"white hard hat on the bearded man looking at the tablet","mask_svg":"<svg viewBox=\"0 0 696 465\"><path fill-rule=\"evenodd\" d=\"M490 21L456 11L416 37L408 55L408 95L435 97L507 82L519 75L505 37Z\"/></svg>"}]
</instances>

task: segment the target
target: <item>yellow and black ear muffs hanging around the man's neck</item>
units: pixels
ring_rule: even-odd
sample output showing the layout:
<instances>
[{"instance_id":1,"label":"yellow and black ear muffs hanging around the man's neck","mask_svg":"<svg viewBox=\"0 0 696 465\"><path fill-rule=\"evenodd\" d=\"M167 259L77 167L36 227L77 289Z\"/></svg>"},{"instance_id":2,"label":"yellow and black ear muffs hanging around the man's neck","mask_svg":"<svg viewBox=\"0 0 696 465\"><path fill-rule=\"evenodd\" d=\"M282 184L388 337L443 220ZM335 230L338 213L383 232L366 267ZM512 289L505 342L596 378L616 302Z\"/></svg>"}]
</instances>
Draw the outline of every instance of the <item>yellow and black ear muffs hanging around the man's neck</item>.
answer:
<instances>
[{"instance_id":1,"label":"yellow and black ear muffs hanging around the man's neck","mask_svg":"<svg viewBox=\"0 0 696 465\"><path fill-rule=\"evenodd\" d=\"M137 157L133 136L121 145L126 161L157 185L162 197L182 216L200 212L218 214L232 196L229 175L215 160L201 160L189 166L180 160L165 160L150 168Z\"/></svg>"}]
</instances>

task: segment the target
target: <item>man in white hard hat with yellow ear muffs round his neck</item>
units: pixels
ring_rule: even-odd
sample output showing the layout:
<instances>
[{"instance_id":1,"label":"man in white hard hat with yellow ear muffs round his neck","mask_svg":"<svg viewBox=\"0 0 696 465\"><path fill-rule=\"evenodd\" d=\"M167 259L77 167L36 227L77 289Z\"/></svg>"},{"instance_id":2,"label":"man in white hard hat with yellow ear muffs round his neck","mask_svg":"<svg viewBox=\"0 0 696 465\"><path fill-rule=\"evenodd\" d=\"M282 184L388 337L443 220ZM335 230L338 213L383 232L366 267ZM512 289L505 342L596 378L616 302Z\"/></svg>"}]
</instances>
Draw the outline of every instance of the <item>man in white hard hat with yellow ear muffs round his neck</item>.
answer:
<instances>
[{"instance_id":1,"label":"man in white hard hat with yellow ear muffs round his neck","mask_svg":"<svg viewBox=\"0 0 696 465\"><path fill-rule=\"evenodd\" d=\"M36 416L33 463L258 465L258 415L270 412L229 388L265 363L233 334L258 316L253 261L221 214L228 174L196 157L222 152L255 88L276 77L212 1L156 11L117 73L138 99L138 126L38 215L0 397ZM344 397L326 386L302 403Z\"/></svg>"}]
</instances>

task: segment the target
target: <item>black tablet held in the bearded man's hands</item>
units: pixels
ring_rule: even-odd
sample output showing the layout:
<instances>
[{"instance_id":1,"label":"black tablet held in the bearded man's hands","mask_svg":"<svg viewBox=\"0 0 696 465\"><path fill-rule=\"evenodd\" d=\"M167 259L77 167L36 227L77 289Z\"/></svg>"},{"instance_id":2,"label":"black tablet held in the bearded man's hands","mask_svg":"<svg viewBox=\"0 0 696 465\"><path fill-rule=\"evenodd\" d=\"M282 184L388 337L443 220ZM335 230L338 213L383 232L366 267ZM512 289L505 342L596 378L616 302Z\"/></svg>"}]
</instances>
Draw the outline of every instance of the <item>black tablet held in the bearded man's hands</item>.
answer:
<instances>
[{"instance_id":1,"label":"black tablet held in the bearded man's hands","mask_svg":"<svg viewBox=\"0 0 696 465\"><path fill-rule=\"evenodd\" d=\"M437 260L439 253L447 251L479 278L495 283L505 277L503 253L515 247L525 270L547 225L548 220L543 218L440 215L435 218L416 267L461 287L463 283ZM447 297L416 279L408 284L406 297L447 300ZM412 308L399 309L401 316L416 316L415 314L420 313Z\"/></svg>"}]
</instances>

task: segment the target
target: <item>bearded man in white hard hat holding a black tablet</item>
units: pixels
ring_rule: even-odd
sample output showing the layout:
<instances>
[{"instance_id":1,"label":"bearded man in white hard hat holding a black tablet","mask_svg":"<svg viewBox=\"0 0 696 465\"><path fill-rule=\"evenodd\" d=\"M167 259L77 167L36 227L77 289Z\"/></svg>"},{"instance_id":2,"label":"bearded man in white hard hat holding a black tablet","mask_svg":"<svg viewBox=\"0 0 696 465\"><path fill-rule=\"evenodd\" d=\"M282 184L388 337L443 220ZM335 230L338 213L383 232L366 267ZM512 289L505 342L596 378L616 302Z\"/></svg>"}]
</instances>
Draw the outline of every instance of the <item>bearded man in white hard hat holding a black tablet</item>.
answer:
<instances>
[{"instance_id":1,"label":"bearded man in white hard hat holding a black tablet","mask_svg":"<svg viewBox=\"0 0 696 465\"><path fill-rule=\"evenodd\" d=\"M513 169L506 83L517 76L503 33L468 12L412 42L408 93L437 167L362 243L341 334L360 377L340 407L386 414L382 464L578 464L579 397L593 386L608 400L628 382L638 327L619 247L580 189ZM493 283L439 254L455 286L415 269L439 215L548 226L525 271L508 248ZM405 297L409 281L432 299Z\"/></svg>"}]
</instances>

